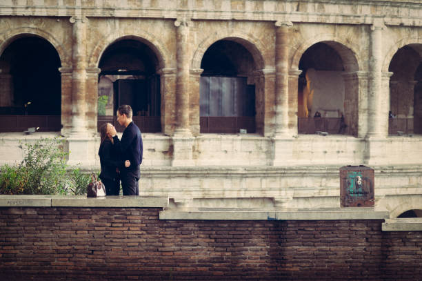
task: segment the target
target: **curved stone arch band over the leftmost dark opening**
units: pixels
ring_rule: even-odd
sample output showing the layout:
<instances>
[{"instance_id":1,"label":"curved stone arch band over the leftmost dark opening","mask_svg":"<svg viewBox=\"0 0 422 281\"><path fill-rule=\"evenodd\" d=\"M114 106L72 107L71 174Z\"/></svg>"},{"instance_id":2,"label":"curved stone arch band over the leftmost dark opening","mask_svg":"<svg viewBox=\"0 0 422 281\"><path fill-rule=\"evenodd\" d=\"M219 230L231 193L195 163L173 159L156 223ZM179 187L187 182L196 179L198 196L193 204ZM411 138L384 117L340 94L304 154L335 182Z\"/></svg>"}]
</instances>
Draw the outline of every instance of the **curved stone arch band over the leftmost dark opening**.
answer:
<instances>
[{"instance_id":1,"label":"curved stone arch band over the leftmost dark opening","mask_svg":"<svg viewBox=\"0 0 422 281\"><path fill-rule=\"evenodd\" d=\"M3 54L4 50L8 48L10 43L15 41L16 39L28 37L28 36L35 36L41 39L45 39L50 43L54 49L59 54L59 59L61 62L62 68L68 68L72 66L71 62L71 54L68 54L64 48L61 46L61 43L57 41L50 33L41 30L39 28L30 28L30 27L22 27L22 28L13 28L12 30L8 30L8 32L3 33L0 35L0 55Z\"/></svg>"}]
</instances>

